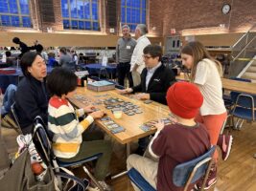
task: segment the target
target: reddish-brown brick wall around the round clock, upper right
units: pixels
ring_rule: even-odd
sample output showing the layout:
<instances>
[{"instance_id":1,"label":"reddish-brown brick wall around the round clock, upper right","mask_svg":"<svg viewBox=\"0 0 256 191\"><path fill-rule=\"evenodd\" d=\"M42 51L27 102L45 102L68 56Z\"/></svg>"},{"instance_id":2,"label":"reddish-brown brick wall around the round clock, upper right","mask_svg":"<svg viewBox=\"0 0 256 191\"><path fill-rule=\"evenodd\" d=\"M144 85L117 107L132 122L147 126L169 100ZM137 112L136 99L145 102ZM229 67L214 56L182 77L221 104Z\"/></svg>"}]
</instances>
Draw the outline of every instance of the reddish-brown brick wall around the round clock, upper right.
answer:
<instances>
[{"instance_id":1,"label":"reddish-brown brick wall around the round clock, upper right","mask_svg":"<svg viewBox=\"0 0 256 191\"><path fill-rule=\"evenodd\" d=\"M153 22L163 22L164 36L169 35L171 29L175 29L179 34L186 29L196 29L191 30L192 34L246 32L256 23L256 1L151 0L151 2L162 6L160 9L162 13L156 15ZM231 11L226 15L221 12L224 3L231 5ZM220 24L224 24L225 28L221 29Z\"/></svg>"}]
</instances>

